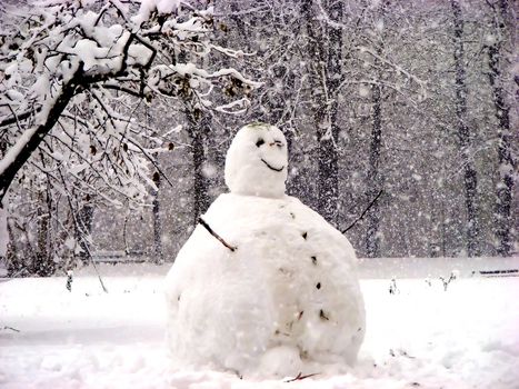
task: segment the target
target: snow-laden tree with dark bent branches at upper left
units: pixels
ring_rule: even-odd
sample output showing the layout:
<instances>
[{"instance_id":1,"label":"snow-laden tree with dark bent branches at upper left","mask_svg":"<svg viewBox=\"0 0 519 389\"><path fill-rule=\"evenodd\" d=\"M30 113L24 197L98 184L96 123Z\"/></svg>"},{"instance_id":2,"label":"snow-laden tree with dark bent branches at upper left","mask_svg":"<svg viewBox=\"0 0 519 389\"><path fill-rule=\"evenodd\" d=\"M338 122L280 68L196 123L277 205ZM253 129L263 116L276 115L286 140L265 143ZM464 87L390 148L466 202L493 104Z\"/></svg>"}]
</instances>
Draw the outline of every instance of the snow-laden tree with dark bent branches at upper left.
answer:
<instances>
[{"instance_id":1,"label":"snow-laden tree with dark bent branches at upper left","mask_svg":"<svg viewBox=\"0 0 519 389\"><path fill-rule=\"evenodd\" d=\"M211 54L240 51L212 42L212 8L200 2L67 0L1 11L0 203L9 188L42 177L69 199L80 236L92 199L142 205L157 190L158 156L173 149L177 127L148 126L146 104L163 98L173 109L237 112L259 86L207 66Z\"/></svg>"}]
</instances>

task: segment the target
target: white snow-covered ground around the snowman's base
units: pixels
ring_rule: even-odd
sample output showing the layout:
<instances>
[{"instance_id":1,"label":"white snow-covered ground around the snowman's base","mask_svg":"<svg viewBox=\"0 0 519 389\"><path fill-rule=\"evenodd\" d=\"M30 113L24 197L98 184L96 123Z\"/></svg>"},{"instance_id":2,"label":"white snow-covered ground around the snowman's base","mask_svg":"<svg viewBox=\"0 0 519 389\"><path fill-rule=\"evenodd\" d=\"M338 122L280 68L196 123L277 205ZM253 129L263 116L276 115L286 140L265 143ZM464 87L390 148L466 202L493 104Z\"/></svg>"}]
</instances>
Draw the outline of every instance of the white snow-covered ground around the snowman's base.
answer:
<instances>
[{"instance_id":1,"label":"white snow-covered ground around the snowman's base","mask_svg":"<svg viewBox=\"0 0 519 389\"><path fill-rule=\"evenodd\" d=\"M517 268L519 258L365 261L368 330L357 366L292 382L170 371L168 266L102 266L108 293L91 269L77 272L71 292L66 277L1 280L0 388L518 388L519 277L479 275ZM455 269L445 291L438 277Z\"/></svg>"}]
</instances>

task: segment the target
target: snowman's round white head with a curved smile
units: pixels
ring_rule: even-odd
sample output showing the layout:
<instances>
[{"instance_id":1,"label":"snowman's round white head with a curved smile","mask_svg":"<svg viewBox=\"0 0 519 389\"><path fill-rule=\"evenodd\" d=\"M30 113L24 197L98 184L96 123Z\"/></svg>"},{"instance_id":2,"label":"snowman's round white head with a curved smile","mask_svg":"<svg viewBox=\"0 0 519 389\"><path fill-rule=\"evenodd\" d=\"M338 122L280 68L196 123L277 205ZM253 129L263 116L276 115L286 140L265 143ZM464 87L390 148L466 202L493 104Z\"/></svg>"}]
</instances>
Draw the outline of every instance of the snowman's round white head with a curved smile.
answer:
<instances>
[{"instance_id":1,"label":"snowman's round white head with a curved smile","mask_svg":"<svg viewBox=\"0 0 519 389\"><path fill-rule=\"evenodd\" d=\"M287 140L270 124L243 127L227 151L226 183L232 193L283 197L287 170Z\"/></svg>"}]
</instances>

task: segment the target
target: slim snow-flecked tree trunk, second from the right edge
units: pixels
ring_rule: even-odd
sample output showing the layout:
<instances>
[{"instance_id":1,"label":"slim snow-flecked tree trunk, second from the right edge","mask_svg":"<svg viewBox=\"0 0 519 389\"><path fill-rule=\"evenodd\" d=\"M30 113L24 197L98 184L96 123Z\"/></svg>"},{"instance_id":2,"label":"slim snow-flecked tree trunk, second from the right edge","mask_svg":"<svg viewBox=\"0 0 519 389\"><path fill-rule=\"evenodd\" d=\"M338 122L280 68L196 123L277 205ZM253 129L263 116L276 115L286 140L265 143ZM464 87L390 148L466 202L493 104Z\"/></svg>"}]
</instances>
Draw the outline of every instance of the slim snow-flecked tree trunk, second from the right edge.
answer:
<instances>
[{"instance_id":1,"label":"slim snow-flecked tree trunk, second from the right edge","mask_svg":"<svg viewBox=\"0 0 519 389\"><path fill-rule=\"evenodd\" d=\"M470 158L470 132L467 126L467 84L463 62L463 19L458 0L451 0L453 14L453 43L456 69L456 118L460 144L461 163L463 164L465 203L467 207L467 253L477 257L480 253L478 245L479 223L477 209L478 178Z\"/></svg>"}]
</instances>

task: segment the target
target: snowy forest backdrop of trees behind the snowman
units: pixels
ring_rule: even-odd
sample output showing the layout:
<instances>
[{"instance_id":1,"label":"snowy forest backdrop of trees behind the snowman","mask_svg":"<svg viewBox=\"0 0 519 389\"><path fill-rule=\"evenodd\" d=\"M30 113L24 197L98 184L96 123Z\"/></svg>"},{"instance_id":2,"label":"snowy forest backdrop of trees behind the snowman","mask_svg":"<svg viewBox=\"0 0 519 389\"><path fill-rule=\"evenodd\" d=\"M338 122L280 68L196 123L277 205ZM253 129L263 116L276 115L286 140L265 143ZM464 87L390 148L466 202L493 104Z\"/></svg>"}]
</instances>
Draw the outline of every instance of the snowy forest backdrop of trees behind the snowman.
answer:
<instances>
[{"instance_id":1,"label":"snowy forest backdrop of trees behind the snowman","mask_svg":"<svg viewBox=\"0 0 519 389\"><path fill-rule=\"evenodd\" d=\"M285 132L288 193L339 230L372 203L345 232L359 257L517 255L516 2L86 4L1 6L2 169L27 151L0 177L11 276L172 261L251 121Z\"/></svg>"}]
</instances>

